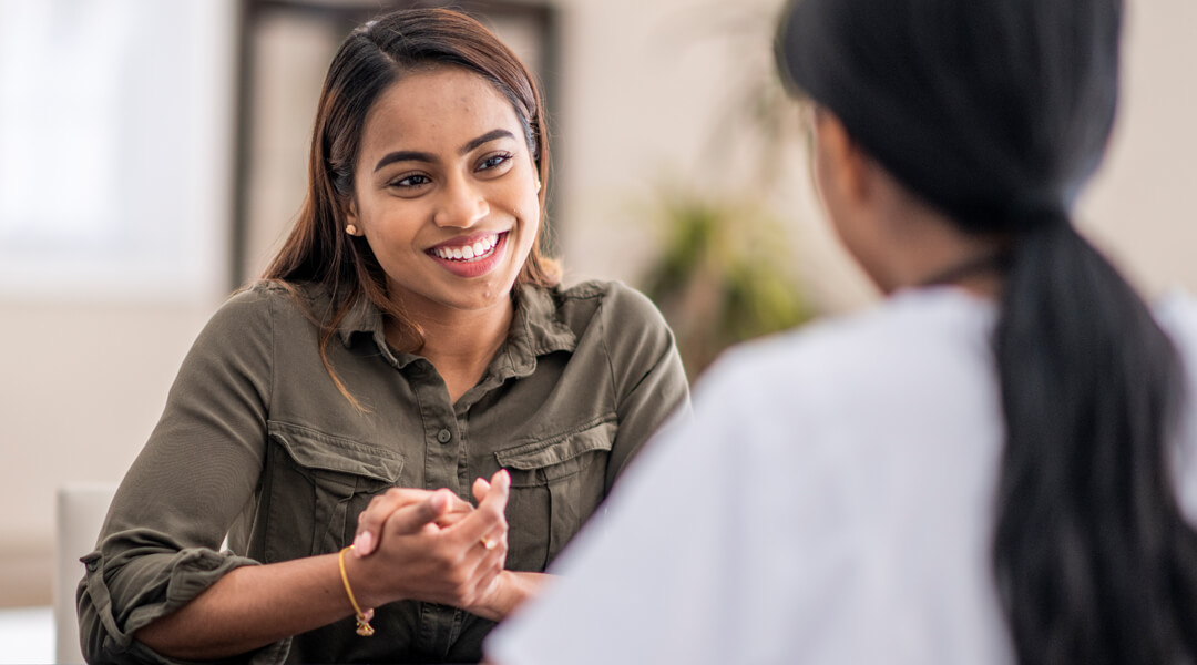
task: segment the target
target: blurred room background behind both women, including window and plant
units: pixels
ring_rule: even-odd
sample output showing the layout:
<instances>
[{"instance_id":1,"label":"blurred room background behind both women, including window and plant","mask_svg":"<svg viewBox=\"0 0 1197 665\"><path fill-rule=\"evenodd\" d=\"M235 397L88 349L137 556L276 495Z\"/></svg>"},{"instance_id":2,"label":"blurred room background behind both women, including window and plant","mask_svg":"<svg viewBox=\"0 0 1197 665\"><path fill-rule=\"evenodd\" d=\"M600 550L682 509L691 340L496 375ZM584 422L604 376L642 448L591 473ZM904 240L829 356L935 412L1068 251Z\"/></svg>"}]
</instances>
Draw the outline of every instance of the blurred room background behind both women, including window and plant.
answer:
<instances>
[{"instance_id":1,"label":"blurred room background behind both women, including window and plant","mask_svg":"<svg viewBox=\"0 0 1197 665\"><path fill-rule=\"evenodd\" d=\"M279 246L353 0L0 0L0 608L50 603L54 493L115 482L192 340ZM427 2L425 2L427 5ZM725 344L875 298L774 80L779 0L455 2L545 84L552 243ZM1129 0L1123 106L1078 224L1197 292L1197 2Z\"/></svg>"}]
</instances>

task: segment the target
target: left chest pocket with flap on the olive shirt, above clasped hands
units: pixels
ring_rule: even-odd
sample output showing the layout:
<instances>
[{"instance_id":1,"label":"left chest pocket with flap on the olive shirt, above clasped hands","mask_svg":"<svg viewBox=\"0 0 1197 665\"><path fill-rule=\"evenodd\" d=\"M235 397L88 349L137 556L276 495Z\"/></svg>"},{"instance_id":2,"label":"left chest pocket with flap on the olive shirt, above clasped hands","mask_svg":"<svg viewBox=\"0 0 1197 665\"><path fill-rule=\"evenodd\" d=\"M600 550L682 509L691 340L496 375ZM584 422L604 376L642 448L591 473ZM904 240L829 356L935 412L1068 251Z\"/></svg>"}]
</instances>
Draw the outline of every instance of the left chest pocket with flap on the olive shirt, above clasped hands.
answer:
<instances>
[{"instance_id":1,"label":"left chest pocket with flap on the olive shirt, above clasped hands","mask_svg":"<svg viewBox=\"0 0 1197 665\"><path fill-rule=\"evenodd\" d=\"M397 452L352 439L278 421L268 422L267 432L268 562L338 551L370 498L394 486L403 469Z\"/></svg>"}]
</instances>

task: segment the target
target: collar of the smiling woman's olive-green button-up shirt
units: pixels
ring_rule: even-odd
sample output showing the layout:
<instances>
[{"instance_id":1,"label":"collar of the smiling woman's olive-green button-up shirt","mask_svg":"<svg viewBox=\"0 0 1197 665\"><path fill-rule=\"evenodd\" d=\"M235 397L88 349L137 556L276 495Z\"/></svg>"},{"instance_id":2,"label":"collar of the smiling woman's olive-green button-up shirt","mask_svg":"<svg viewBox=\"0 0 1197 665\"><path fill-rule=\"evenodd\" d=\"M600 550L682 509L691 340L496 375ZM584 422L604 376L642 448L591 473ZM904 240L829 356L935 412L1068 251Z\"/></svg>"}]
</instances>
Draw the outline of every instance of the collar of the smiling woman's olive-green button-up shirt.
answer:
<instances>
[{"instance_id":1,"label":"collar of the smiling woman's olive-green button-up shirt","mask_svg":"<svg viewBox=\"0 0 1197 665\"><path fill-rule=\"evenodd\" d=\"M528 376L535 370L537 356L577 348L578 340L573 330L558 319L557 293L555 287L522 285L515 288L516 311L511 319L511 331L491 364L492 374L498 373L503 378ZM358 297L336 331L346 347L352 347L354 336L361 334L370 336L383 354L390 355L383 331L382 310L364 295ZM415 358L418 356L400 353L395 360L402 367Z\"/></svg>"}]
</instances>

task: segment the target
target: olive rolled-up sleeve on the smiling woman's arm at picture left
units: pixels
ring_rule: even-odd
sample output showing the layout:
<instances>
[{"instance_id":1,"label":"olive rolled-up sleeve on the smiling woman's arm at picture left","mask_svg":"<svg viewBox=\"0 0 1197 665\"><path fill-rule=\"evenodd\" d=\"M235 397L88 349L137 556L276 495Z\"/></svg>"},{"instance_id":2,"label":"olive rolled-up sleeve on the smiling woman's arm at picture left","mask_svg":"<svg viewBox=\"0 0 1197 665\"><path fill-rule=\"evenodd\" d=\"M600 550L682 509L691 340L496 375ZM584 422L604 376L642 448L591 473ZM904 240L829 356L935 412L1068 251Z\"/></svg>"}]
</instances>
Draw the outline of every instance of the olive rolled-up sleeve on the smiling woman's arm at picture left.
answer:
<instances>
[{"instance_id":1,"label":"olive rolled-up sleeve on the smiling woman's arm at picture left","mask_svg":"<svg viewBox=\"0 0 1197 665\"><path fill-rule=\"evenodd\" d=\"M122 481L77 600L89 663L171 663L135 633L174 612L230 571L257 562L220 551L248 514L262 470L269 409L272 298L230 299L178 372L162 419ZM286 658L288 641L247 654Z\"/></svg>"}]
</instances>

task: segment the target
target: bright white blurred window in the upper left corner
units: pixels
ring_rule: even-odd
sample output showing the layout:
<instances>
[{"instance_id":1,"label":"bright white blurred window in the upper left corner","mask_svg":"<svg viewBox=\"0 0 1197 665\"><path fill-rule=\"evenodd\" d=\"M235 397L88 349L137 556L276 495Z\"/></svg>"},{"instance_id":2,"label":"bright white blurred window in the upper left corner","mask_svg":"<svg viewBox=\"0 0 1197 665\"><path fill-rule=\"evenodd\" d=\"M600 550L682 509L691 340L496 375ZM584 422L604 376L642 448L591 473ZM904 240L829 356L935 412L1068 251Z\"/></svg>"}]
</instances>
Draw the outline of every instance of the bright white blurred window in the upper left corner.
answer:
<instances>
[{"instance_id":1,"label":"bright white blurred window in the upper left corner","mask_svg":"<svg viewBox=\"0 0 1197 665\"><path fill-rule=\"evenodd\" d=\"M0 0L0 295L226 288L233 0Z\"/></svg>"}]
</instances>

